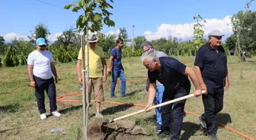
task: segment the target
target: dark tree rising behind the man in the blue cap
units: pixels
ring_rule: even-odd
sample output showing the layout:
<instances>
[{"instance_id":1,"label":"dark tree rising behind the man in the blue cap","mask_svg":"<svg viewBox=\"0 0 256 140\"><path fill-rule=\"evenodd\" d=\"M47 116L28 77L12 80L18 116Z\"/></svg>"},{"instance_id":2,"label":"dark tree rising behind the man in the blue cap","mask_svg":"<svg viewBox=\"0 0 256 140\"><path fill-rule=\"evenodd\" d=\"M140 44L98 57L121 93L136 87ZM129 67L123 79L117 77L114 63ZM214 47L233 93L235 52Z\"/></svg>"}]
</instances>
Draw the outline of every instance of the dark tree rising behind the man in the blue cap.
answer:
<instances>
[{"instance_id":1,"label":"dark tree rising behind the man in the blue cap","mask_svg":"<svg viewBox=\"0 0 256 140\"><path fill-rule=\"evenodd\" d=\"M30 39L30 42L35 43L37 38L40 38L40 37L46 39L46 43L49 42L47 37L50 35L50 30L43 23L39 23L37 26L35 26L34 32L30 31L30 33L31 35L27 36L28 39Z\"/></svg>"}]
</instances>

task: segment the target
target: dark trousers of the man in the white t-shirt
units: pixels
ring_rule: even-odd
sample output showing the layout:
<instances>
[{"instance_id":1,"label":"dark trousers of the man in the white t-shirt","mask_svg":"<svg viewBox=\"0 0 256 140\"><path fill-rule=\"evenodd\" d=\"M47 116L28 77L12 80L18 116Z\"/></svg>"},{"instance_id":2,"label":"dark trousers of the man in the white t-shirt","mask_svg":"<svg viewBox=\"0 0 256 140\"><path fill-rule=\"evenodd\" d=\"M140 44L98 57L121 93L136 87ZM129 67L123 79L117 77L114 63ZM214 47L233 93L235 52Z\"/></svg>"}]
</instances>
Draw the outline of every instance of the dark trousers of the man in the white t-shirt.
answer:
<instances>
[{"instance_id":1,"label":"dark trousers of the man in the white t-shirt","mask_svg":"<svg viewBox=\"0 0 256 140\"><path fill-rule=\"evenodd\" d=\"M44 104L44 91L46 91L50 101L50 111L53 112L57 110L56 86L53 77L50 79L41 79L37 76L34 76L34 79L36 81L37 106L40 114L46 113Z\"/></svg>"}]
</instances>

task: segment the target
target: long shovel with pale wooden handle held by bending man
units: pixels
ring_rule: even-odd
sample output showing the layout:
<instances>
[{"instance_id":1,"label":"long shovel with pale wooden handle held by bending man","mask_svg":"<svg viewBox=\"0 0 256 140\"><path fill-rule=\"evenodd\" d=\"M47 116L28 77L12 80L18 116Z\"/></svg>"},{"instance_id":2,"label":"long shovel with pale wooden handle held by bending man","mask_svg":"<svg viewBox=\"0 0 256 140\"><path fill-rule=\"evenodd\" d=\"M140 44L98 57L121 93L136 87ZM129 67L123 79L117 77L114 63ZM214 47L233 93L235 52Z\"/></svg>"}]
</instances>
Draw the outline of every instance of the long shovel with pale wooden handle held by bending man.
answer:
<instances>
[{"instance_id":1,"label":"long shovel with pale wooden handle held by bending man","mask_svg":"<svg viewBox=\"0 0 256 140\"><path fill-rule=\"evenodd\" d=\"M204 94L205 92L206 92L206 91L202 91L202 94ZM181 97L181 98L176 98L176 99L171 100L171 101L166 101L166 102L164 102L164 103L162 103L162 104L154 105L154 106L152 106L152 107L149 107L149 109L154 109L154 108L157 108L157 107L162 107L162 106L164 106L164 105L171 104L171 103L174 103L174 102L176 102L176 101L181 101L181 100L184 100L184 99L186 99L186 98L193 97L193 96L194 96L194 94L186 95L186 96L183 96L183 97ZM109 123L114 123L114 122L116 122L117 120L122 120L122 119L124 119L124 118L126 118L126 117L131 117L131 116L136 115L136 114L141 114L142 112L145 112L145 111L146 111L145 109L138 110L138 111L136 111L136 112L134 112L134 113L132 113L132 114L126 114L126 115L124 115L124 116L122 116L122 117L117 117L117 118L115 118L115 119L113 119L113 120L106 121L106 122L102 123L102 125L107 125L107 124L109 124Z\"/></svg>"}]
</instances>

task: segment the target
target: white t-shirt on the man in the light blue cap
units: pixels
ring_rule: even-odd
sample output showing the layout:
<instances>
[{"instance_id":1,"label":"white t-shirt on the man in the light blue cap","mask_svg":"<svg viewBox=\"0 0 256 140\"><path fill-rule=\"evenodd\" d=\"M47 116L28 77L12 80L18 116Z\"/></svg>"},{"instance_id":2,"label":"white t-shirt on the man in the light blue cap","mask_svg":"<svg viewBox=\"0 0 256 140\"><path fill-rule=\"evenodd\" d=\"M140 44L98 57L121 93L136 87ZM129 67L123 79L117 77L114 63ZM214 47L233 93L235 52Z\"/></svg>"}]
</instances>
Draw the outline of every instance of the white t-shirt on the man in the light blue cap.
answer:
<instances>
[{"instance_id":1,"label":"white t-shirt on the man in the light blue cap","mask_svg":"<svg viewBox=\"0 0 256 140\"><path fill-rule=\"evenodd\" d=\"M50 51L32 51L27 58L27 64L34 65L33 74L34 76L40 77L41 79L50 79L52 70L50 62L53 62L53 55Z\"/></svg>"}]
</instances>

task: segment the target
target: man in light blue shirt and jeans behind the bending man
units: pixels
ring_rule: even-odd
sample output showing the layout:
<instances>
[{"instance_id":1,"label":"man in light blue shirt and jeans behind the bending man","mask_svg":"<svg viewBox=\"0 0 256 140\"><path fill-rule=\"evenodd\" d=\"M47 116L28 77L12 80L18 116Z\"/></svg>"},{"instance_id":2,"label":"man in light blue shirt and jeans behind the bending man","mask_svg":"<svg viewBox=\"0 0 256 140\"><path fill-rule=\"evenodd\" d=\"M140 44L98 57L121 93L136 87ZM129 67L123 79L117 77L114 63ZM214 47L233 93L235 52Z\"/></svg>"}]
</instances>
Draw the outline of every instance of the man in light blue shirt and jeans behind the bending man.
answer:
<instances>
[{"instance_id":1,"label":"man in light blue shirt and jeans behind the bending man","mask_svg":"<svg viewBox=\"0 0 256 140\"><path fill-rule=\"evenodd\" d=\"M143 52L153 50L155 52L156 57L158 57L158 58L168 56L167 54L165 54L162 51L155 50L153 48L152 43L148 42L148 41L142 42L142 45L140 46L140 48L142 48ZM147 90L147 92L149 92L149 77L146 82L146 90ZM154 99L155 105L162 103L162 97L163 97L164 91L165 91L165 86L163 86L161 82L156 80L156 92L155 92L155 99ZM155 114L156 114L156 123L155 123L156 128L155 129L157 131L161 131L161 127L162 127L161 107L155 108Z\"/></svg>"}]
</instances>

